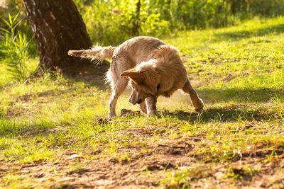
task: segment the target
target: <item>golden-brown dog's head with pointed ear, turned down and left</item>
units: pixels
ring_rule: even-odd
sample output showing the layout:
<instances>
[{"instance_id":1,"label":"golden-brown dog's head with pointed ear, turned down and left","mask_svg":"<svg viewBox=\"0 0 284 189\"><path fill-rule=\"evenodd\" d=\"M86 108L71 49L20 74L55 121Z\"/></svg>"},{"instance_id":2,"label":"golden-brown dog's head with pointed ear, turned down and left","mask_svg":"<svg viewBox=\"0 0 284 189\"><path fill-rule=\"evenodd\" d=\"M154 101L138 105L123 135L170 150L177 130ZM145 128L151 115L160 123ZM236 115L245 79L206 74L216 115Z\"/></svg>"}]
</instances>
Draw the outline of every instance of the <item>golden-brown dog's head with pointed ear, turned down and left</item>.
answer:
<instances>
[{"instance_id":1,"label":"golden-brown dog's head with pointed ear, turned down and left","mask_svg":"<svg viewBox=\"0 0 284 189\"><path fill-rule=\"evenodd\" d=\"M143 103L145 98L156 96L160 88L160 75L153 64L141 64L134 69L124 71L121 76L131 79L131 104Z\"/></svg>"}]
</instances>

